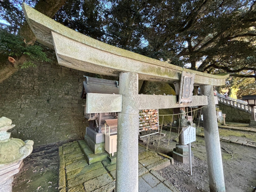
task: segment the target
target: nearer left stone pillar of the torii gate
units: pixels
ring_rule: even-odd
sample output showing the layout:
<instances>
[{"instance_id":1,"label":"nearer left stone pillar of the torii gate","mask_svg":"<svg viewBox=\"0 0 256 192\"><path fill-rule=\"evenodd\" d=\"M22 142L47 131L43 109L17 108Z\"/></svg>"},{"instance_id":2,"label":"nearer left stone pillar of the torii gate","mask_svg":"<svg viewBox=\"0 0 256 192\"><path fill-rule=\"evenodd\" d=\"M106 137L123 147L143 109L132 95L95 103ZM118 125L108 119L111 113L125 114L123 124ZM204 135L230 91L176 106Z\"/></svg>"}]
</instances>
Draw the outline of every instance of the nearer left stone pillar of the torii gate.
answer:
<instances>
[{"instance_id":1,"label":"nearer left stone pillar of the torii gate","mask_svg":"<svg viewBox=\"0 0 256 192\"><path fill-rule=\"evenodd\" d=\"M118 114L116 192L138 192L138 74L121 73L119 82L123 101Z\"/></svg>"}]
</instances>

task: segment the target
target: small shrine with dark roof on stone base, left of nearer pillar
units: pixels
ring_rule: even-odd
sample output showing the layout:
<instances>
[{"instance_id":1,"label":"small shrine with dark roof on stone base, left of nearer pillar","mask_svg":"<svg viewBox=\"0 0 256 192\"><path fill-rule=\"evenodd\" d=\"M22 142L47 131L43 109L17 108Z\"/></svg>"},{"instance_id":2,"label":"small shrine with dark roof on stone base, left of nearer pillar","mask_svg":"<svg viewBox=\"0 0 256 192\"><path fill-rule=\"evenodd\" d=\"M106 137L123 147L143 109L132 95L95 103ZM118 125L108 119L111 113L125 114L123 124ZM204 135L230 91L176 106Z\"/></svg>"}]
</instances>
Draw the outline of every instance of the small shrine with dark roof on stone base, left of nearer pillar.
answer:
<instances>
[{"instance_id":1,"label":"small shrine with dark roof on stone base, left of nearer pillar","mask_svg":"<svg viewBox=\"0 0 256 192\"><path fill-rule=\"evenodd\" d=\"M86 99L87 93L118 94L118 81L84 77L86 80L83 82L82 99ZM84 111L84 117L89 121L89 127L86 127L84 140L90 149L94 154L101 154L106 150L113 156L116 152L118 114L116 112L86 113ZM113 158L109 157L109 160L111 162Z\"/></svg>"}]
</instances>

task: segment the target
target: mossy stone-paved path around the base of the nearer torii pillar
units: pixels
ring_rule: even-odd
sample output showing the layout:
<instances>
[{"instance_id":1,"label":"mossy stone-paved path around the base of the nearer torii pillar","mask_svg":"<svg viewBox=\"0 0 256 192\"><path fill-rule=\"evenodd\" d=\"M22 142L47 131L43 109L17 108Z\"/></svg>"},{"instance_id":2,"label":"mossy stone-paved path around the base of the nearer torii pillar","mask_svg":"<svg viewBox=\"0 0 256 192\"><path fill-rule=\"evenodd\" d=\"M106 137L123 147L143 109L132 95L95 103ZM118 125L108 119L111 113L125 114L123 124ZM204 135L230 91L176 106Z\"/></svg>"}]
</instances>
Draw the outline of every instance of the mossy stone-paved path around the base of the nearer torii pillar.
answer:
<instances>
[{"instance_id":1,"label":"mossy stone-paved path around the base of the nearer torii pillar","mask_svg":"<svg viewBox=\"0 0 256 192\"><path fill-rule=\"evenodd\" d=\"M82 146L82 148L81 148ZM86 162L83 151L90 150L84 140L59 147L59 192L112 192L116 183L116 164L108 160ZM156 170L169 166L170 159L139 146L139 192L178 192Z\"/></svg>"}]
</instances>

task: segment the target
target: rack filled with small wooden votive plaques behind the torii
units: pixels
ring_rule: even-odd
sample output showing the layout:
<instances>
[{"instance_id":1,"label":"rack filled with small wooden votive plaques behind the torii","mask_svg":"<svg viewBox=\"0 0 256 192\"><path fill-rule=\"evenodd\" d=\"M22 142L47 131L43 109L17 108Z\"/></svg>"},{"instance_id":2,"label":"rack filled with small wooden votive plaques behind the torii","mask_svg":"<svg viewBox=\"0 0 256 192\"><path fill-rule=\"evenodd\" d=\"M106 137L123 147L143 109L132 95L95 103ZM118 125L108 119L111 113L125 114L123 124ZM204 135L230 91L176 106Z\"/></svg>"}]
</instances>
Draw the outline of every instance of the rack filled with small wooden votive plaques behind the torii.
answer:
<instances>
[{"instance_id":1,"label":"rack filled with small wooden votive plaques behind the torii","mask_svg":"<svg viewBox=\"0 0 256 192\"><path fill-rule=\"evenodd\" d=\"M158 109L139 110L139 131L158 130Z\"/></svg>"}]
</instances>

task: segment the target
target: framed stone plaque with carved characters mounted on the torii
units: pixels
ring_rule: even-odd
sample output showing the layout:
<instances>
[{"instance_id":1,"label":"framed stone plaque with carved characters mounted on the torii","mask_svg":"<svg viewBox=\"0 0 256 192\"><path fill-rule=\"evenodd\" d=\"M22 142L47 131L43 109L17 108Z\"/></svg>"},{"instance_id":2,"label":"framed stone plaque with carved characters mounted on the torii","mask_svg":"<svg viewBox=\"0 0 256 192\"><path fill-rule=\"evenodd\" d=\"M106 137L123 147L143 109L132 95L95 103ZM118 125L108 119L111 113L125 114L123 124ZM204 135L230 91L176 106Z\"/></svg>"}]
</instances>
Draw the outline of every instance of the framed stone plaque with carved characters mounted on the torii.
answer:
<instances>
[{"instance_id":1,"label":"framed stone plaque with carved characters mounted on the torii","mask_svg":"<svg viewBox=\"0 0 256 192\"><path fill-rule=\"evenodd\" d=\"M192 102L195 74L182 71L180 78L179 103Z\"/></svg>"}]
</instances>

